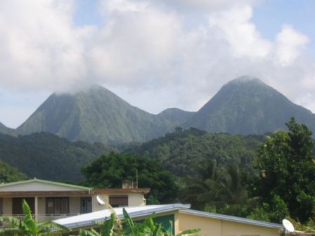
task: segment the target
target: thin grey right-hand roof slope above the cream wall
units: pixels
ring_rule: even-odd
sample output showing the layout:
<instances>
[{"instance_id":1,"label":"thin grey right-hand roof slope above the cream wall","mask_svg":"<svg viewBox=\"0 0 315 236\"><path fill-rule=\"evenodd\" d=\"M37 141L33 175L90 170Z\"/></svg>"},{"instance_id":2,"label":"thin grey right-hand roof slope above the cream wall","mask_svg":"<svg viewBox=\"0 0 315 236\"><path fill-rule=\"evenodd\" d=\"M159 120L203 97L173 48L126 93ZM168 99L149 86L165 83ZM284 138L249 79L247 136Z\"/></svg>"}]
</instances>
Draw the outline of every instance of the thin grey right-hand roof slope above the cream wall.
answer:
<instances>
[{"instance_id":1,"label":"thin grey right-hand roof slope above the cream wall","mask_svg":"<svg viewBox=\"0 0 315 236\"><path fill-rule=\"evenodd\" d=\"M227 215L222 215L222 214L214 214L211 212L207 211L196 211L192 209L180 209L179 212L185 213L185 214L191 214L195 216L205 216L209 218L216 218L219 220L224 220L224 221L233 221L233 222L238 222L238 223L247 223L250 225L259 225L263 227L268 227L268 228L283 228L283 225L278 224L278 223L271 223L271 222L266 222L266 221L256 221L252 220L249 218L242 218L242 217L237 217L237 216L227 216Z\"/></svg>"}]
</instances>

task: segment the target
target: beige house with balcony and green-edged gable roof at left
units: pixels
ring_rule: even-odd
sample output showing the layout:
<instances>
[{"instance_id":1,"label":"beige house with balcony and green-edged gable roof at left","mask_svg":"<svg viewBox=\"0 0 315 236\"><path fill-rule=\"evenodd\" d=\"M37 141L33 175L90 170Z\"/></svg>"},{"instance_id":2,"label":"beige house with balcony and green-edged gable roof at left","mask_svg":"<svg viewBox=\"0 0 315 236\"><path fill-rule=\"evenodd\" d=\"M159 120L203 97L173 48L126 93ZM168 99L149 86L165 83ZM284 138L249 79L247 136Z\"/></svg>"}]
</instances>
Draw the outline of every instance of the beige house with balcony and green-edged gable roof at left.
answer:
<instances>
[{"instance_id":1,"label":"beige house with balcony and green-edged gable roof at left","mask_svg":"<svg viewBox=\"0 0 315 236\"><path fill-rule=\"evenodd\" d=\"M51 221L105 209L97 195L116 207L145 206L148 192L148 188L93 189L34 178L0 184L0 215L22 216L25 199L37 221Z\"/></svg>"}]
</instances>

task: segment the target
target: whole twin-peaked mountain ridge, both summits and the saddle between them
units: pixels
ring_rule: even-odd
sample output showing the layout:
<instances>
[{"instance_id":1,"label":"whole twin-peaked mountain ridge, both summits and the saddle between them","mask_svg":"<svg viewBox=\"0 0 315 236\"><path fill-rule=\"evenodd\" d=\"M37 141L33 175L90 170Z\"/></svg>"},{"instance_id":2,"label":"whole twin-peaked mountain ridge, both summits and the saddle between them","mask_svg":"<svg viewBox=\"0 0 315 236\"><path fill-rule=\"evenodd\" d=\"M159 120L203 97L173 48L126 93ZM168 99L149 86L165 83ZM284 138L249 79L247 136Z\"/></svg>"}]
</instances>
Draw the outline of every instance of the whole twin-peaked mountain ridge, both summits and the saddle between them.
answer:
<instances>
[{"instance_id":1,"label":"whole twin-peaked mountain ridge, both summits and the saddle between them","mask_svg":"<svg viewBox=\"0 0 315 236\"><path fill-rule=\"evenodd\" d=\"M68 140L119 143L145 142L176 127L212 133L264 134L286 129L295 117L315 131L315 114L296 105L256 77L238 77L197 112L169 108L150 114L101 86L72 95L52 94L17 131L50 132Z\"/></svg>"}]
</instances>

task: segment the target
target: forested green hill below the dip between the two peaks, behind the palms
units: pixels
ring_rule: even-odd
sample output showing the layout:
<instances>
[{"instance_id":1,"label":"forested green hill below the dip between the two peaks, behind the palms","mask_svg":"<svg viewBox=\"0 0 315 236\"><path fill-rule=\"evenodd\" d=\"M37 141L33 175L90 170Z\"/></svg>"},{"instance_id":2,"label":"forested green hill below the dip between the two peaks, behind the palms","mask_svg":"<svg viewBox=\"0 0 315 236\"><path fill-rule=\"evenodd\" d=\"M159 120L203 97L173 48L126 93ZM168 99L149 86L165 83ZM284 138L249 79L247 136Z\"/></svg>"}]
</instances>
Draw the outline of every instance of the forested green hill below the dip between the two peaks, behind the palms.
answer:
<instances>
[{"instance_id":1,"label":"forested green hill below the dip between the two peaks, behind the palms","mask_svg":"<svg viewBox=\"0 0 315 236\"><path fill-rule=\"evenodd\" d=\"M127 147L124 152L159 159L176 176L190 174L203 159L213 159L219 166L236 162L245 171L252 171L252 161L263 140L264 136L213 134L191 128Z\"/></svg>"}]
</instances>

